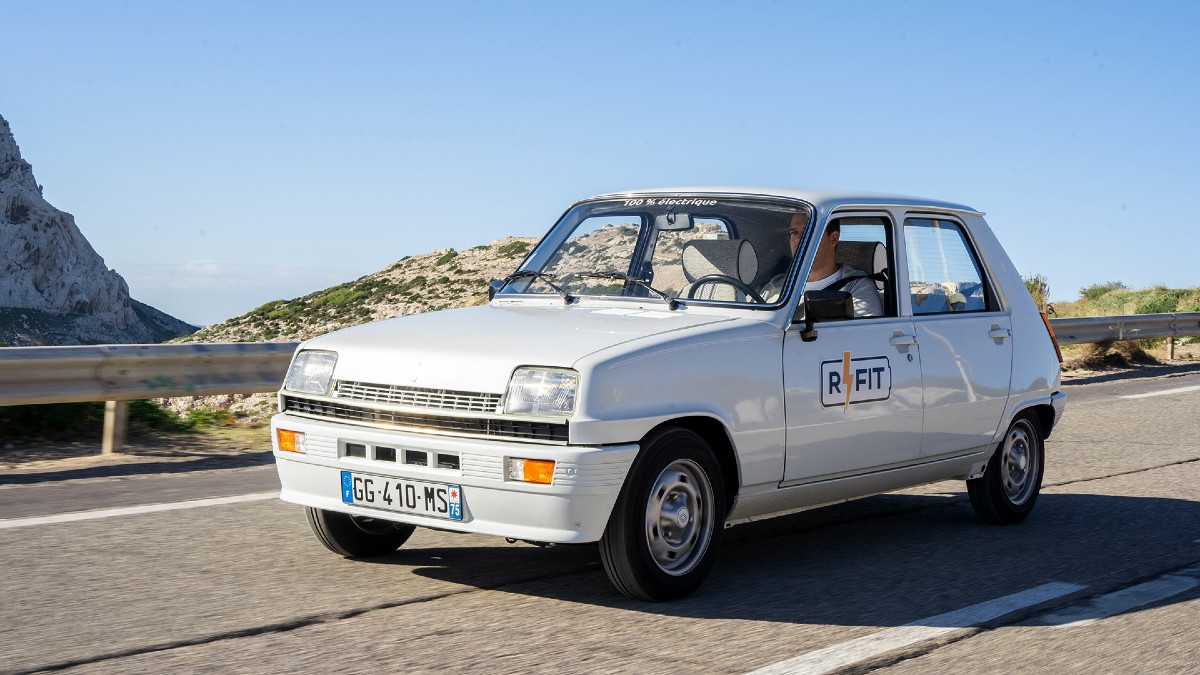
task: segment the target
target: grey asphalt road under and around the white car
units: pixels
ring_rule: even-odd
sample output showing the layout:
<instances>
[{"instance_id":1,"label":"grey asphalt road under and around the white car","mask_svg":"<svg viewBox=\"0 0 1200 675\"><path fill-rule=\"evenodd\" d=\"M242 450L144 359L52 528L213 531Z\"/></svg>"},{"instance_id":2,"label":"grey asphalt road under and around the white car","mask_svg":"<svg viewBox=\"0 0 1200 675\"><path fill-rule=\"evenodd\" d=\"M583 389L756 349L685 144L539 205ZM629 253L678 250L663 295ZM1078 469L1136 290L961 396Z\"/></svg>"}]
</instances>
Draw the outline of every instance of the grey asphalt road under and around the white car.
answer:
<instances>
[{"instance_id":1,"label":"grey asphalt road under and around the white car","mask_svg":"<svg viewBox=\"0 0 1200 675\"><path fill-rule=\"evenodd\" d=\"M739 526L665 604L594 546L340 558L270 466L0 480L0 671L1200 673L1200 368L1067 390L1025 524L940 483Z\"/></svg>"}]
</instances>

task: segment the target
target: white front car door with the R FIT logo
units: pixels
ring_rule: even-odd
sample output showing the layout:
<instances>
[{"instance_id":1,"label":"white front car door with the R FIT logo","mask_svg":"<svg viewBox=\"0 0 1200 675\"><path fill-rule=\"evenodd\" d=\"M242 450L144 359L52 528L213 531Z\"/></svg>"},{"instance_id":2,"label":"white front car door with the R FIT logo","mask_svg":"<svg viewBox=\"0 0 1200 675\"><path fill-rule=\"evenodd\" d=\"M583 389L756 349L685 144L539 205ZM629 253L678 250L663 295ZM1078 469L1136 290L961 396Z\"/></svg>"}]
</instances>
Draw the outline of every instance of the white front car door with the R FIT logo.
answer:
<instances>
[{"instance_id":1,"label":"white front car door with the R FIT logo","mask_svg":"<svg viewBox=\"0 0 1200 675\"><path fill-rule=\"evenodd\" d=\"M839 259L854 240L884 247L884 316L817 322L812 341L803 340L800 325L785 334L784 485L907 464L920 454L922 358L912 318L898 312L893 221L887 214L834 221Z\"/></svg>"}]
</instances>

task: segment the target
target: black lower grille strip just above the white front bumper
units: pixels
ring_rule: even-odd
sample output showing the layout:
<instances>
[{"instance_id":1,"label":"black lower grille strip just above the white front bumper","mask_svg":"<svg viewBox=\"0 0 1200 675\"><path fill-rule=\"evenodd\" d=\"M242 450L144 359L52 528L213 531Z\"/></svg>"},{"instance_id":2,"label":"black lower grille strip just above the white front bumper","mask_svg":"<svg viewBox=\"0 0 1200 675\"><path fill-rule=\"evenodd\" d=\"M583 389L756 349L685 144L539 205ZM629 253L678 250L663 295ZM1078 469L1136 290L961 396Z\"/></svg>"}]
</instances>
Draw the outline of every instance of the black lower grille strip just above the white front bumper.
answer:
<instances>
[{"instance_id":1,"label":"black lower grille strip just above the white front bumper","mask_svg":"<svg viewBox=\"0 0 1200 675\"><path fill-rule=\"evenodd\" d=\"M377 410L364 406L317 401L296 396L283 396L283 411L312 417L341 419L364 424L384 424L415 430L499 436L528 441L552 441L565 443L566 423L527 422L520 419L487 419L475 417L450 417Z\"/></svg>"}]
</instances>

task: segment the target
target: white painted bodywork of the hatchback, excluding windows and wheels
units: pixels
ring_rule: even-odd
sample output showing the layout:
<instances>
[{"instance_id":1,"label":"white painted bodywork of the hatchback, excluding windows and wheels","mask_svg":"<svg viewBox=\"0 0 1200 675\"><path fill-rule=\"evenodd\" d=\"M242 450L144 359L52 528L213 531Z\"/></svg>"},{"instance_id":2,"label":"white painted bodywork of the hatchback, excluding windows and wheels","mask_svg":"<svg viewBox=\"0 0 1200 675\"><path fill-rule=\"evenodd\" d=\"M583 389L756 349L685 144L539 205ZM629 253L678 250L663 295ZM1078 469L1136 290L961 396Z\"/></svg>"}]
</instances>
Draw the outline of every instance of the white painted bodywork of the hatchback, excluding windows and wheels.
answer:
<instances>
[{"instance_id":1,"label":"white painted bodywork of the hatchback, excluding windows and wheels","mask_svg":"<svg viewBox=\"0 0 1200 675\"><path fill-rule=\"evenodd\" d=\"M688 187L623 192L600 198L654 195L762 196L803 201L820 229L835 213L884 213L900 226L907 215L953 219L971 235L992 283L997 311L913 317L901 293L898 316L818 323L805 342L792 318L800 293L774 307L683 303L655 298L497 295L490 305L402 317L340 330L300 350L338 354L335 381L389 387L504 394L520 366L578 374L569 417L524 419L502 410L473 419L560 424L565 440L492 437L454 429L325 419L314 412L272 418L282 497L310 507L401 522L539 542L594 542L642 440L661 425L712 434L710 446L730 476L727 522L755 520L887 490L978 476L1013 417L1034 408L1052 425L1062 414L1058 363L1037 307L982 214L948 202L910 197L752 187ZM584 201L589 202L589 201ZM792 273L811 265L803 250ZM902 237L896 259L904 259ZM895 279L907 287L902 265ZM1009 335L989 338L1000 329ZM895 346L898 334L916 342ZM824 362L887 358L889 395L841 408L822 405ZM319 405L336 396L310 396ZM827 404L829 401L826 401ZM386 406L384 406L386 408ZM457 419L446 410L415 411ZM305 434L306 453L283 452L274 430ZM1049 431L1049 429L1046 430ZM347 443L461 458L454 472L346 456ZM557 462L550 485L508 479L509 458ZM462 486L462 521L380 514L346 504L341 471L452 483Z\"/></svg>"}]
</instances>

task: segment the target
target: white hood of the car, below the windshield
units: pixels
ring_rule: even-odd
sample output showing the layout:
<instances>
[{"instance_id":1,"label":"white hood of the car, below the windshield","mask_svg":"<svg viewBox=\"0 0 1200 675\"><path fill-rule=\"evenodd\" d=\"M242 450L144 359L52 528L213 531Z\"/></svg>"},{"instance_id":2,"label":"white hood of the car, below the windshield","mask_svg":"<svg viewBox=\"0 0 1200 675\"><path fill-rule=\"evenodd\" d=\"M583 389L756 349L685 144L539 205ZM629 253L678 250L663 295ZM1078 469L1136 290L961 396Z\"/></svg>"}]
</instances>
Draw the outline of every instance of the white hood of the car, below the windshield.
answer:
<instances>
[{"instance_id":1,"label":"white hood of the car, below the windshield","mask_svg":"<svg viewBox=\"0 0 1200 675\"><path fill-rule=\"evenodd\" d=\"M728 317L640 307L485 305L337 330L305 350L337 352L335 380L502 394L520 365L571 368L617 345Z\"/></svg>"}]
</instances>

